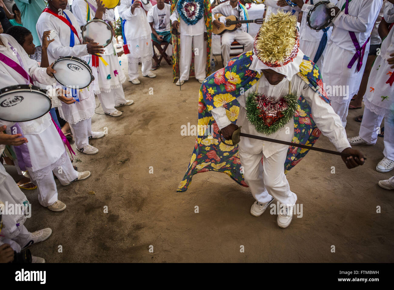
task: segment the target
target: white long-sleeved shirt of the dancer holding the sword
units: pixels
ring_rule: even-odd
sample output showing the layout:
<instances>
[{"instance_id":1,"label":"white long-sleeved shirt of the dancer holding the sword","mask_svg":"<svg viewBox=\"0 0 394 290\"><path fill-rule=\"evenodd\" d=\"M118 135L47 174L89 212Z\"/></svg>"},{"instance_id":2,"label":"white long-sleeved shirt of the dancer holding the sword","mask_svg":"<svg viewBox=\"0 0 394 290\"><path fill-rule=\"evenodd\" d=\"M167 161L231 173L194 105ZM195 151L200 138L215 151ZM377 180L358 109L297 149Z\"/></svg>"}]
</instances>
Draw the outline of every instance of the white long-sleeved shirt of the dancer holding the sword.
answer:
<instances>
[{"instance_id":1,"label":"white long-sleeved shirt of the dancer holding the sword","mask_svg":"<svg viewBox=\"0 0 394 290\"><path fill-rule=\"evenodd\" d=\"M258 85L258 88L257 88ZM260 82L257 82L249 90L245 91L245 94L240 95L237 100L240 105L245 108L246 97L251 92L264 93L268 96L274 96L276 99L288 94L289 92L288 79L283 79L282 82L273 86L269 84L268 80L262 75ZM342 126L342 122L337 114L335 114L333 108L327 104L322 98L308 86L298 75L294 75L292 78L292 93L296 95L302 95L312 108L313 120L322 131L323 135L327 136L330 141L336 147L336 150L342 152L344 149L351 147L346 137L345 128ZM220 129L223 129L227 125L230 125L230 120L227 118L226 109L223 107L217 107L210 111L214 117L217 125ZM308 116L309 117L309 116ZM286 134L286 127L294 127L294 119L291 120L282 129L273 133L272 135L266 136L277 140L284 140L291 142L294 134ZM291 130L293 133L294 131ZM263 154L265 157L271 156L277 152L278 145L272 142L265 142L266 146L263 148Z\"/></svg>"}]
</instances>

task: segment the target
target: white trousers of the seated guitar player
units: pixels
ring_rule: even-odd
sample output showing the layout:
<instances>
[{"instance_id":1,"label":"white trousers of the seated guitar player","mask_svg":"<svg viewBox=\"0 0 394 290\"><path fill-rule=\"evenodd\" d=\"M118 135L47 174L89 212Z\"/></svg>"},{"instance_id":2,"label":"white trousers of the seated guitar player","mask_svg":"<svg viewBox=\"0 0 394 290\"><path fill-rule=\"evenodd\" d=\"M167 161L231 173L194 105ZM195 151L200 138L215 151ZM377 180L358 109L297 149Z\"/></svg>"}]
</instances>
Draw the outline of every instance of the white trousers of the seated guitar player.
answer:
<instances>
[{"instance_id":1,"label":"white trousers of the seated guitar player","mask_svg":"<svg viewBox=\"0 0 394 290\"><path fill-rule=\"evenodd\" d=\"M227 65L230 60L231 43L236 40L245 46L243 52L251 51L253 49L253 37L241 29L235 31L225 32L221 36L221 51L223 56L223 63Z\"/></svg>"}]
</instances>

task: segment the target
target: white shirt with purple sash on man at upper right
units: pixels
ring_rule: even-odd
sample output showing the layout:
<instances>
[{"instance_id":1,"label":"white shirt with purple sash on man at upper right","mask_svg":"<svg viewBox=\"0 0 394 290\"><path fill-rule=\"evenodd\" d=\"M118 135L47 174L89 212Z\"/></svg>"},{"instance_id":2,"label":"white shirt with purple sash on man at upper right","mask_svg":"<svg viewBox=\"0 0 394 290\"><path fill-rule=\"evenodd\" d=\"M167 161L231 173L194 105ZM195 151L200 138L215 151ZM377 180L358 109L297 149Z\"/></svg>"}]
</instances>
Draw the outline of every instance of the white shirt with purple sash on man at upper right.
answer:
<instances>
[{"instance_id":1,"label":"white shirt with purple sash on man at upper right","mask_svg":"<svg viewBox=\"0 0 394 290\"><path fill-rule=\"evenodd\" d=\"M339 0L339 9L346 0ZM333 20L334 28L330 41L348 51L356 52L349 31L355 32L359 45L362 46L370 37L375 21L379 15L383 0L353 0L349 3L349 15L340 11Z\"/></svg>"}]
</instances>

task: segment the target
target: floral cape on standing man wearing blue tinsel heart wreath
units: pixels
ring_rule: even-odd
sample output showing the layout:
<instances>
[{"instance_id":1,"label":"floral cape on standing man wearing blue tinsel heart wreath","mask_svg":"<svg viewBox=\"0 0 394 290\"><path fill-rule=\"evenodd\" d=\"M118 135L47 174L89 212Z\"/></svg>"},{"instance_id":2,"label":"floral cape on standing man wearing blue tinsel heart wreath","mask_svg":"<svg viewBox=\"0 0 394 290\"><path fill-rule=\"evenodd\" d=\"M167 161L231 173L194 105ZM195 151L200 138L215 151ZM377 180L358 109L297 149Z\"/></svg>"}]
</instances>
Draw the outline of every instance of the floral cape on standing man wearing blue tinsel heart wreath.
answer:
<instances>
[{"instance_id":1,"label":"floral cape on standing man wearing blue tinsel heart wreath","mask_svg":"<svg viewBox=\"0 0 394 290\"><path fill-rule=\"evenodd\" d=\"M171 4L171 14L174 12L176 9L175 4L177 4L177 0L172 0ZM206 75L211 74L211 63L210 63L210 57L211 57L211 44L212 44L212 12L211 12L211 3L209 0L204 0L205 4L205 9L204 9L204 20L205 20L205 26L206 26L206 31L208 34L208 40L206 41ZM179 21L179 19L178 19ZM178 49L180 51L180 37L178 35L178 41L177 41L177 36L175 34L171 34L172 37L172 43L173 43L173 82L179 77L178 76L178 69L179 69L179 64L178 64L178 59L177 59L177 53ZM192 60L191 60L191 65L190 65L190 76L194 75L194 53L192 54Z\"/></svg>"}]
</instances>

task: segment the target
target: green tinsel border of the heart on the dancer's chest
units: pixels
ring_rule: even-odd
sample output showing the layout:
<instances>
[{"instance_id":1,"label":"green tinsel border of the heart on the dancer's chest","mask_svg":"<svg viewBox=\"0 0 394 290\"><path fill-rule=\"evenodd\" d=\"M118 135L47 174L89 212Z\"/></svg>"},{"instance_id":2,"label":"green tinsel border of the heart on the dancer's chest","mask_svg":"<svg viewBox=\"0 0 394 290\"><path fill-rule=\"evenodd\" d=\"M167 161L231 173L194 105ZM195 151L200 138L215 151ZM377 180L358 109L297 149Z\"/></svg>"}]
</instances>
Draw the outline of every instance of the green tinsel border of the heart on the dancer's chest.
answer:
<instances>
[{"instance_id":1,"label":"green tinsel border of the heart on the dancer's chest","mask_svg":"<svg viewBox=\"0 0 394 290\"><path fill-rule=\"evenodd\" d=\"M296 111L298 104L298 96L294 94L288 94L283 97L288 105L288 109L282 111L283 117L277 120L272 125L267 126L263 122L262 118L258 116L260 114L260 111L257 109L257 103L255 101L256 95L256 93L251 93L248 95L248 97L246 98L245 109L246 118L252 125L256 127L257 132L269 136L284 127L284 125L286 125L290 121L290 118L294 117L294 112Z\"/></svg>"}]
</instances>

